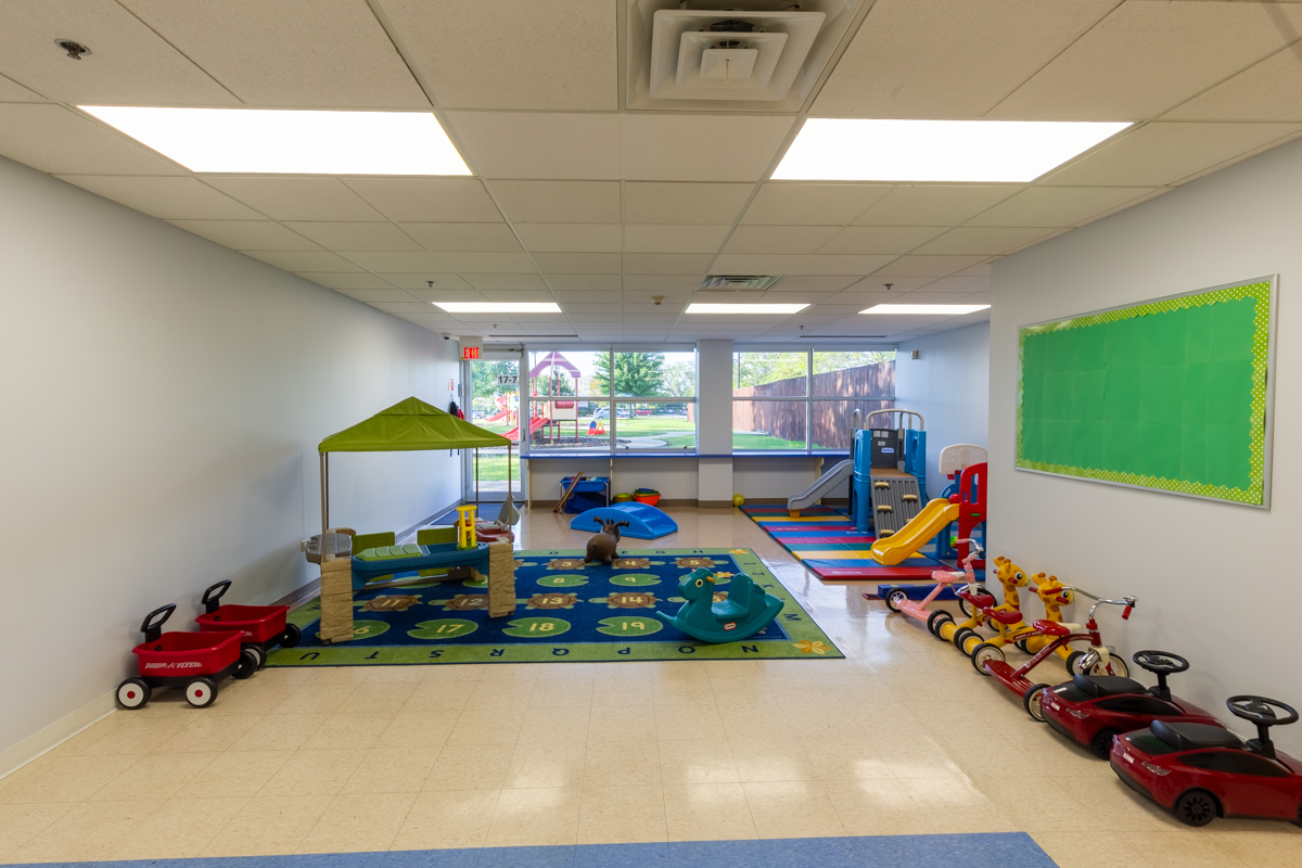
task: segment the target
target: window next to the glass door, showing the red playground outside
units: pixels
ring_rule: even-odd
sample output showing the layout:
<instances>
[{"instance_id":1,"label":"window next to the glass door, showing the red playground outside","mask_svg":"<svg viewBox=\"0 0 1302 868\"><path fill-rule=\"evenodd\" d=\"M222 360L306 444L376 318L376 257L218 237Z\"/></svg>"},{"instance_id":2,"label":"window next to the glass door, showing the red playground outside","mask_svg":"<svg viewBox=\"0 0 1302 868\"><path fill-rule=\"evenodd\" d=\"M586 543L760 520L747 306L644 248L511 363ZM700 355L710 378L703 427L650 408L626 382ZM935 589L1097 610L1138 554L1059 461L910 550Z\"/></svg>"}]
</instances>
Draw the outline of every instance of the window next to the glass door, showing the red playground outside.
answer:
<instances>
[{"instance_id":1,"label":"window next to the glass door, showing the red playground outside","mask_svg":"<svg viewBox=\"0 0 1302 868\"><path fill-rule=\"evenodd\" d=\"M529 353L529 452L695 452L697 354Z\"/></svg>"}]
</instances>

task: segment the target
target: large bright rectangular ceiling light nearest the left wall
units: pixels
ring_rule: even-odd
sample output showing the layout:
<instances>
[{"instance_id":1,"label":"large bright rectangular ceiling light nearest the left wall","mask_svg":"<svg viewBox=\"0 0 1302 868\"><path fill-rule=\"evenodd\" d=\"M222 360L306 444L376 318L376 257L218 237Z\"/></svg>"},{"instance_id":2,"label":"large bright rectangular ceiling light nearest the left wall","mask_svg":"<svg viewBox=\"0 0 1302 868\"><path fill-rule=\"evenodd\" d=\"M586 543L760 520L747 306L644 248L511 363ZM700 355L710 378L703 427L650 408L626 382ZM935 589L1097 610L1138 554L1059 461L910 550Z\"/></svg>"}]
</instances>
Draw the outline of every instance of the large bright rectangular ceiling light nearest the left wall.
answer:
<instances>
[{"instance_id":1,"label":"large bright rectangular ceiling light nearest the left wall","mask_svg":"<svg viewBox=\"0 0 1302 868\"><path fill-rule=\"evenodd\" d=\"M78 108L191 172L470 174L428 112Z\"/></svg>"}]
</instances>

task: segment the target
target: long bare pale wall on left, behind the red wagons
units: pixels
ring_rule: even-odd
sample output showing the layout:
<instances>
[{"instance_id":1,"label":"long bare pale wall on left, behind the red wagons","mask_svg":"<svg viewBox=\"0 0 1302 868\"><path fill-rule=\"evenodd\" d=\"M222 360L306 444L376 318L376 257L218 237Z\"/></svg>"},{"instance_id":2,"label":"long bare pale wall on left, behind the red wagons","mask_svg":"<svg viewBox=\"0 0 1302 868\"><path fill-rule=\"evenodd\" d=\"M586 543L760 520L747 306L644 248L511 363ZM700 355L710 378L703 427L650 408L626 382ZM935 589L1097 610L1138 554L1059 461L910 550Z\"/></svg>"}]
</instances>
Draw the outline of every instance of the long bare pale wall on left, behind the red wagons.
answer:
<instances>
[{"instance_id":1,"label":"long bare pale wall on left, behind the red wagons","mask_svg":"<svg viewBox=\"0 0 1302 868\"><path fill-rule=\"evenodd\" d=\"M4 159L0 323L4 760L116 687L151 609L185 630L216 580L268 603L314 578L316 444L460 379L437 334ZM406 527L458 479L447 453L340 455L331 518Z\"/></svg>"}]
</instances>

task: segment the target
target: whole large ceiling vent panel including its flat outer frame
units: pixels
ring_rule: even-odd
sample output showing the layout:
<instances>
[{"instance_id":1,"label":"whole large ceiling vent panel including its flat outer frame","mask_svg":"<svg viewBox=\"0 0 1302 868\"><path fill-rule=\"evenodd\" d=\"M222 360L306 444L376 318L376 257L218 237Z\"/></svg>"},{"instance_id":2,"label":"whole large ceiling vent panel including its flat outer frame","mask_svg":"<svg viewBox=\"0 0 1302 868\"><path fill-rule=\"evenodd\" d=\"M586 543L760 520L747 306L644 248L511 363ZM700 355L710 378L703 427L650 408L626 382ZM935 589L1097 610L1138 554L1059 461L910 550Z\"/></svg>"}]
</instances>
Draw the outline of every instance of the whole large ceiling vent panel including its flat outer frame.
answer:
<instances>
[{"instance_id":1,"label":"whole large ceiling vent panel including its flat outer frame","mask_svg":"<svg viewBox=\"0 0 1302 868\"><path fill-rule=\"evenodd\" d=\"M625 0L628 107L798 111L865 0Z\"/></svg>"}]
</instances>

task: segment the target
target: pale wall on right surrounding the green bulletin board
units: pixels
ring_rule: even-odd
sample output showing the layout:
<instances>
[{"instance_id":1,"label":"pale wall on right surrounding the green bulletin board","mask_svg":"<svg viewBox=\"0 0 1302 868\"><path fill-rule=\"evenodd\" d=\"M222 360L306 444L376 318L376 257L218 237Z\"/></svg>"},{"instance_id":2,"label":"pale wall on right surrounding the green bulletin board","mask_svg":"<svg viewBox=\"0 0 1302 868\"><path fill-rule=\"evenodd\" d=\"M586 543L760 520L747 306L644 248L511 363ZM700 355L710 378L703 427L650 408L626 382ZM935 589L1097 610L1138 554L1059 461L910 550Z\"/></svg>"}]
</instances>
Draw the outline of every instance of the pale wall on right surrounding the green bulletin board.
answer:
<instances>
[{"instance_id":1,"label":"pale wall on right surrounding the green bulletin board","mask_svg":"<svg viewBox=\"0 0 1302 868\"><path fill-rule=\"evenodd\" d=\"M1299 190L1294 143L1001 259L993 271L992 553L1096 593L1138 595L1129 622L1103 614L1104 640L1128 656L1161 648L1189 657L1193 669L1173 678L1174 692L1238 731L1250 730L1229 716L1226 696L1302 705ZM1019 325L1271 273L1280 275L1280 307L1269 511L1013 470ZM1302 756L1302 725L1281 727L1277 740Z\"/></svg>"}]
</instances>

